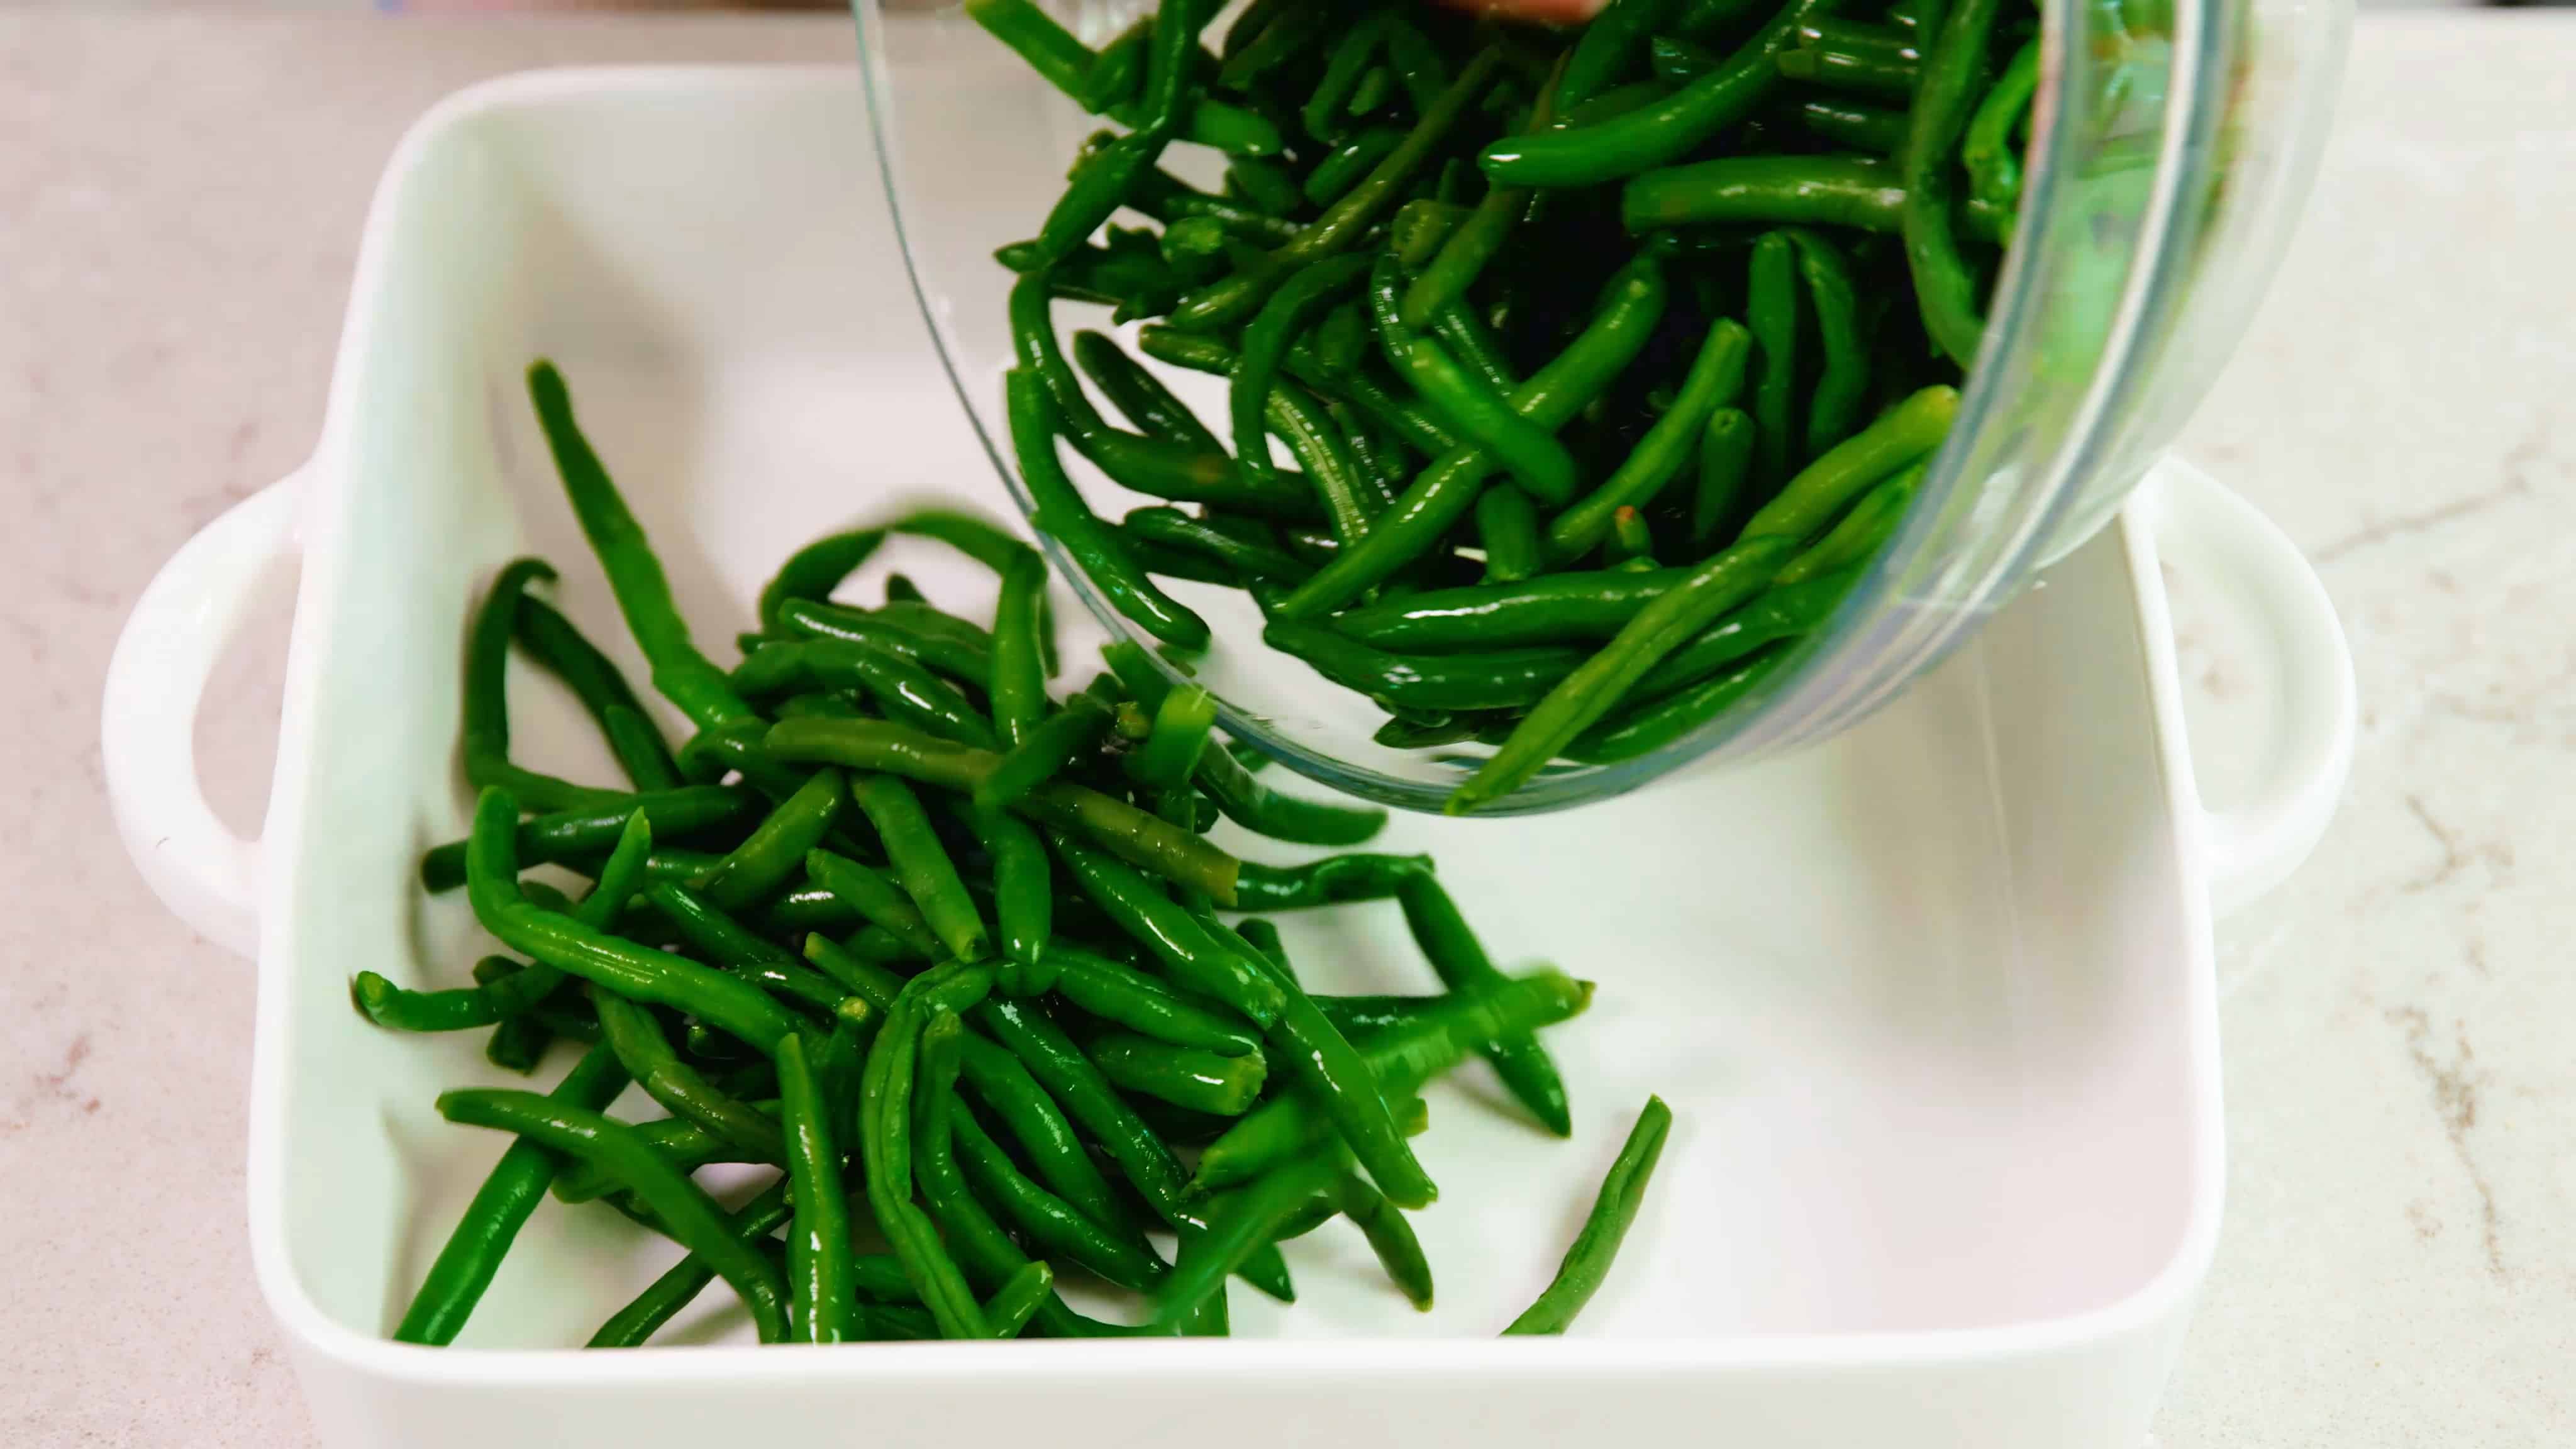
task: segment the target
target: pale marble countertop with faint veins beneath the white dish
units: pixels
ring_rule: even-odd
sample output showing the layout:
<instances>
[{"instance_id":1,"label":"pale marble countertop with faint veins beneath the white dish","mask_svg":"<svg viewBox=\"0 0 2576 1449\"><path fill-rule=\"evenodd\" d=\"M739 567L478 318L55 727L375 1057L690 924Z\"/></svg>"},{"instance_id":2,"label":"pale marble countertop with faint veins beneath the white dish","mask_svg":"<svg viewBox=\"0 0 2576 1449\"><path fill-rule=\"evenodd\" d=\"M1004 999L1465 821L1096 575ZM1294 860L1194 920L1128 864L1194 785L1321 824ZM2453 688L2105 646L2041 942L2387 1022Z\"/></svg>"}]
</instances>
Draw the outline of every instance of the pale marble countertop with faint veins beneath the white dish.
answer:
<instances>
[{"instance_id":1,"label":"pale marble countertop with faint veins beneath the white dish","mask_svg":"<svg viewBox=\"0 0 2576 1449\"><path fill-rule=\"evenodd\" d=\"M394 137L533 64L848 57L817 18L0 13L0 1444L309 1441L242 1227L250 969L118 851L98 681L309 449ZM2166 1449L2576 1441L2571 77L2576 15L2367 15L2187 436L2316 557L2362 730L2316 859L2218 931L2228 1214ZM245 828L289 588L198 730Z\"/></svg>"}]
</instances>

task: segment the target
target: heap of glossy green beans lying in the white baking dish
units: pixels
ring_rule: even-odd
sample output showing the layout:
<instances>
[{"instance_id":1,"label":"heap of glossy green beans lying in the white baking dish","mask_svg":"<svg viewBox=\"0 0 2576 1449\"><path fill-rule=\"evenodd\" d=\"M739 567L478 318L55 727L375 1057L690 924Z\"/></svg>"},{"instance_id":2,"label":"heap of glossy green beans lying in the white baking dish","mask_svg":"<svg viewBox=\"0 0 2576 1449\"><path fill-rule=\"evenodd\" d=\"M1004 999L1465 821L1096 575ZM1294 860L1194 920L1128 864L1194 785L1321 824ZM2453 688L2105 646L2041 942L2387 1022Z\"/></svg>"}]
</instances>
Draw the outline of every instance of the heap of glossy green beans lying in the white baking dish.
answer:
<instances>
[{"instance_id":1,"label":"heap of glossy green beans lying in the white baking dish","mask_svg":"<svg viewBox=\"0 0 2576 1449\"><path fill-rule=\"evenodd\" d=\"M386 1029L489 1029L487 1055L520 1073L554 1039L587 1049L546 1096L438 1098L513 1145L394 1338L451 1343L549 1186L685 1250L592 1346L649 1341L716 1279L762 1341L1224 1333L1229 1279L1293 1299L1278 1245L1334 1217L1427 1310L1417 1093L1481 1055L1538 1127L1571 1134L1538 1031L1582 1013L1589 982L1497 969L1427 856L1347 851L1381 810L1273 792L1213 735L1208 694L1131 645L1059 699L1046 565L979 518L801 549L742 663L719 665L564 379L541 361L531 392L654 688L696 732L670 748L528 593L551 567L500 570L466 639L474 822L420 879L464 887L510 954L471 987L358 972L350 998ZM876 608L835 601L889 534L992 567L992 624L896 580ZM623 786L510 758L513 639L574 683ZM1345 851L1242 861L1206 841L1218 817ZM572 900L536 866L592 884ZM1309 995L1267 920L1236 915L1368 900L1401 905L1437 993ZM647 1116L613 1114L629 1085ZM693 1176L716 1163L773 1176L726 1209ZM1587 1281L1607 1269L1597 1240ZM1136 1312L1074 1312L1066 1279L1126 1289Z\"/></svg>"}]
</instances>

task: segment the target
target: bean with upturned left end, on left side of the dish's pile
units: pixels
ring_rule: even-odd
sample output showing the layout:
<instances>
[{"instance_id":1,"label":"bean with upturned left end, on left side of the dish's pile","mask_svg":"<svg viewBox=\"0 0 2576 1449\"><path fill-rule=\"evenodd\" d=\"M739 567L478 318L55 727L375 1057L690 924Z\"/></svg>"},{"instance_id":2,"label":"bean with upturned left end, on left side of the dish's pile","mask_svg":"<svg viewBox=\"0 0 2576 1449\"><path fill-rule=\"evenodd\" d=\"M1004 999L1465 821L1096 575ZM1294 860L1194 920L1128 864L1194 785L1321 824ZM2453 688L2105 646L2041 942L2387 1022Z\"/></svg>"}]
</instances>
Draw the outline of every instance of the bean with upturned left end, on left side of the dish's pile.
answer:
<instances>
[{"instance_id":1,"label":"bean with upturned left end, on left side of the dish's pile","mask_svg":"<svg viewBox=\"0 0 2576 1449\"><path fill-rule=\"evenodd\" d=\"M634 1000L688 1011L762 1052L778 1049L778 1039L796 1029L796 1016L752 982L531 905L518 887L518 848L510 828L515 817L518 804L502 789L482 792L474 804L474 833L466 838L466 895L484 931L541 964Z\"/></svg>"}]
</instances>

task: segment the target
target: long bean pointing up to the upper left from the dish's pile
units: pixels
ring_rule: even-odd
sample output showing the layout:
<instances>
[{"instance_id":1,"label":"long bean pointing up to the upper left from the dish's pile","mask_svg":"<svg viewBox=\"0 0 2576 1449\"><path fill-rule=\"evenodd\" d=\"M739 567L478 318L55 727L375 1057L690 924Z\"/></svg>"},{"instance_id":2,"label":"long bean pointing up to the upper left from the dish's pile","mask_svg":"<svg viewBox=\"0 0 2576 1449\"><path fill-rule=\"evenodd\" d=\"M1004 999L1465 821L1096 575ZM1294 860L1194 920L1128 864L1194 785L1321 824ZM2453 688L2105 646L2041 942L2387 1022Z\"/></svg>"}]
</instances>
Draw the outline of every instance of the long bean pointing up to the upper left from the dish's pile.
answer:
<instances>
[{"instance_id":1,"label":"long bean pointing up to the upper left from the dish's pile","mask_svg":"<svg viewBox=\"0 0 2576 1449\"><path fill-rule=\"evenodd\" d=\"M670 598L662 562L652 554L652 541L644 539L634 513L626 511L608 467L600 464L590 441L582 438L582 428L572 420L572 392L551 361L538 358L528 366L528 397L536 402L546 449L554 451L554 469L564 480L564 498L572 500L582 536L590 539L590 552L598 554L600 570L608 575L626 629L652 665L652 686L701 727L750 717L752 706L724 681L724 670L690 642L688 624Z\"/></svg>"}]
</instances>

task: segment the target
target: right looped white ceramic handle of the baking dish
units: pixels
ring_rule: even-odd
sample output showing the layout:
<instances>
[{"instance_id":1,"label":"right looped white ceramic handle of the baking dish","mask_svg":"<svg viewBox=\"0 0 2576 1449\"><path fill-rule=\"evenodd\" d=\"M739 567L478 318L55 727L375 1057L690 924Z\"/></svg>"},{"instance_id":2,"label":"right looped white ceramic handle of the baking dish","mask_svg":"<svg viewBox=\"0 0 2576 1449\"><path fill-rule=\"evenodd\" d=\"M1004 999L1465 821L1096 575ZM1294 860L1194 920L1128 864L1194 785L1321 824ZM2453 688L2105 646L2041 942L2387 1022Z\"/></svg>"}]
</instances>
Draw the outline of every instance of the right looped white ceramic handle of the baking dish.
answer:
<instances>
[{"instance_id":1,"label":"right looped white ceramic handle of the baking dish","mask_svg":"<svg viewBox=\"0 0 2576 1449\"><path fill-rule=\"evenodd\" d=\"M2210 902L2233 910L2277 887L2334 820L2352 768L2352 647L2298 544L2251 503L2166 456L2138 490L2156 552L2172 557L2269 652L2272 750L2244 802L2202 810Z\"/></svg>"}]
</instances>

